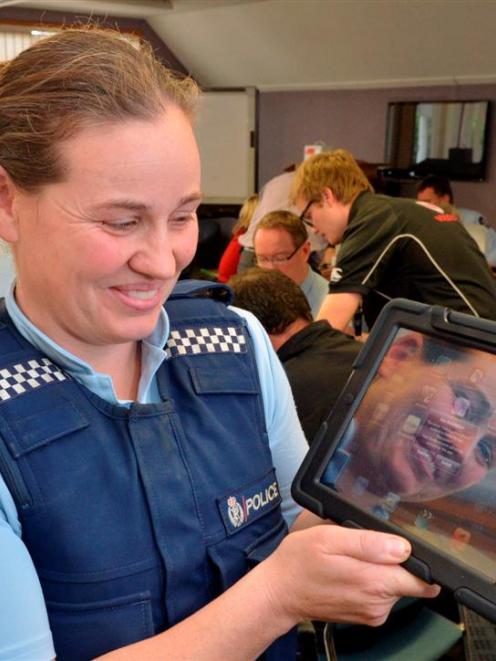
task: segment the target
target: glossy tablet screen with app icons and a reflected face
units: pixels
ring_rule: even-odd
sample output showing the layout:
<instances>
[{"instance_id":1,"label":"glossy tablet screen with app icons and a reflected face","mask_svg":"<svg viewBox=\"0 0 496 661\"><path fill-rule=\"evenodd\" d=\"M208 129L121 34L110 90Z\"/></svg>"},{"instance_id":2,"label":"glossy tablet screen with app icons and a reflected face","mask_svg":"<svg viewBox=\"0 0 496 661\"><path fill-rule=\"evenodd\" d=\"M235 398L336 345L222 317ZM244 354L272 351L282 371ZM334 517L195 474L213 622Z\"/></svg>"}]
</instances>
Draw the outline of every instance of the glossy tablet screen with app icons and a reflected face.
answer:
<instances>
[{"instance_id":1,"label":"glossy tablet screen with app icons and a reflected face","mask_svg":"<svg viewBox=\"0 0 496 661\"><path fill-rule=\"evenodd\" d=\"M396 332L320 482L496 581L496 356Z\"/></svg>"}]
</instances>

